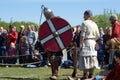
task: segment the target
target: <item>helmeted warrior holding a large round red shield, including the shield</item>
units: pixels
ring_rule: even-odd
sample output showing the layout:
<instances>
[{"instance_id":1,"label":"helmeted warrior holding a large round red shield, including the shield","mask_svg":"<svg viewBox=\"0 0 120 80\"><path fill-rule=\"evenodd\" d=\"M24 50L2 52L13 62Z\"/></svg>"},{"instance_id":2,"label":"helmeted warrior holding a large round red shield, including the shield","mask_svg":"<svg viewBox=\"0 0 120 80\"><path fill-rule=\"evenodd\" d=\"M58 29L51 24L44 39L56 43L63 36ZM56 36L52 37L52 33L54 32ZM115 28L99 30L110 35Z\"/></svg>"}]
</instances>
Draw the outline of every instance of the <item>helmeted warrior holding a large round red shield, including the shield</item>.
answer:
<instances>
[{"instance_id":1,"label":"helmeted warrior holding a large round red shield, including the shield","mask_svg":"<svg viewBox=\"0 0 120 80\"><path fill-rule=\"evenodd\" d=\"M66 48L72 40L72 30L64 19L55 17L51 9L42 7L47 19L39 29L39 40L48 53L51 64L51 80L58 77L58 68L63 56L62 50Z\"/></svg>"}]
</instances>

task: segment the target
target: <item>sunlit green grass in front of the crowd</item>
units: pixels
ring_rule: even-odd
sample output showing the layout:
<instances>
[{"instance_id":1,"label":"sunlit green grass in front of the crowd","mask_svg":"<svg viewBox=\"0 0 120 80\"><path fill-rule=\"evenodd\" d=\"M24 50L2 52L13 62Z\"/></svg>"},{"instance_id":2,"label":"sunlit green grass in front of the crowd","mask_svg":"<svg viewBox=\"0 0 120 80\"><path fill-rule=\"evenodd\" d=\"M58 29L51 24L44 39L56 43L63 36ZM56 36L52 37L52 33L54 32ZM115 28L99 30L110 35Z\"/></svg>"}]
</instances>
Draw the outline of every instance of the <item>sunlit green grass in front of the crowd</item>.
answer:
<instances>
[{"instance_id":1,"label":"sunlit green grass in front of the crowd","mask_svg":"<svg viewBox=\"0 0 120 80\"><path fill-rule=\"evenodd\" d=\"M67 76L71 76L73 69L59 69L58 80L67 80ZM95 70L95 75L100 70ZM77 75L82 75L82 71L78 70ZM0 80L49 80L51 76L51 68L22 68L22 67L0 67Z\"/></svg>"}]
</instances>

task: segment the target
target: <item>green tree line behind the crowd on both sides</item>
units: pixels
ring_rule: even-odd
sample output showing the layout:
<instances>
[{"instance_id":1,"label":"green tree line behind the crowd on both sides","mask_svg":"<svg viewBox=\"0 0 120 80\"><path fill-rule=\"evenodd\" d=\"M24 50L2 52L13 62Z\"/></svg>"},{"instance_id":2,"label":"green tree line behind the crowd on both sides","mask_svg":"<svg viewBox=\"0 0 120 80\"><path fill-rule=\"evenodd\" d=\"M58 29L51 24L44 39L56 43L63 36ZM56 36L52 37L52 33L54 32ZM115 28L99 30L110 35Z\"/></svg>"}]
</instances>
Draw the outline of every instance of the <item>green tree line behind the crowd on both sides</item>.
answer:
<instances>
[{"instance_id":1,"label":"green tree line behind the crowd on both sides","mask_svg":"<svg viewBox=\"0 0 120 80\"><path fill-rule=\"evenodd\" d=\"M93 21L95 21L99 27L105 29L106 27L111 26L110 21L109 21L109 17L112 14L116 14L118 16L118 21L120 21L120 14L117 13L115 10L112 11L112 10L108 10L108 9L104 9L103 14L93 16ZM15 21L15 22L12 22L12 23L11 22L7 23L5 21L1 21L1 18L0 18L0 26L3 26L5 29L8 30L8 26L11 25L11 24L16 26L17 31L19 31L19 26L20 25L24 25L25 27L27 27L28 25L32 24L32 25L37 26L38 28L40 27L39 24L37 24L35 22L25 22L25 21L18 22L18 21Z\"/></svg>"}]
</instances>

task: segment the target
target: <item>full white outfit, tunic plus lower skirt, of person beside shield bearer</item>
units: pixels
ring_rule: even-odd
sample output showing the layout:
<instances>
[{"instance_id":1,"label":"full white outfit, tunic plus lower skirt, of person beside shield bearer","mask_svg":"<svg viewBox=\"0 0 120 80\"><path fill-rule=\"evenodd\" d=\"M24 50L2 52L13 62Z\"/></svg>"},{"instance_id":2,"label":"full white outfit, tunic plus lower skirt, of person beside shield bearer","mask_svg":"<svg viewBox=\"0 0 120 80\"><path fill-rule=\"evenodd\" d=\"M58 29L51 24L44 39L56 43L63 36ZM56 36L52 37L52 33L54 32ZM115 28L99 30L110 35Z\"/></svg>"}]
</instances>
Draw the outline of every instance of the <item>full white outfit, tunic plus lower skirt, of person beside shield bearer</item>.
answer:
<instances>
[{"instance_id":1,"label":"full white outfit, tunic plus lower skirt, of person beside shield bearer","mask_svg":"<svg viewBox=\"0 0 120 80\"><path fill-rule=\"evenodd\" d=\"M79 69L98 68L96 40L99 36L98 26L92 20L86 20L82 24L81 36L85 37L82 50L80 50L77 66Z\"/></svg>"}]
</instances>

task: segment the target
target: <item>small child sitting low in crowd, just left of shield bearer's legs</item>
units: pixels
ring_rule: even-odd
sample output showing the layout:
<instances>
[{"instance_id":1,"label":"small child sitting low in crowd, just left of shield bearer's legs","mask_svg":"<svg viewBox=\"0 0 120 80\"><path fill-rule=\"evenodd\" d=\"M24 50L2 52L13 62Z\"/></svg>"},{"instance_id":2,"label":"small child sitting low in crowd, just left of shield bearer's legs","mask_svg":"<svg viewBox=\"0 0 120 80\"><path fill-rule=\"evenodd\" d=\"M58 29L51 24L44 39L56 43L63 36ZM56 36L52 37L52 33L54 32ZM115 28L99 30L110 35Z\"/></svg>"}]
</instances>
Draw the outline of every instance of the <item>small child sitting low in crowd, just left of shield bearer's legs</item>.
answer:
<instances>
[{"instance_id":1,"label":"small child sitting low in crowd, just left of shield bearer's legs","mask_svg":"<svg viewBox=\"0 0 120 80\"><path fill-rule=\"evenodd\" d=\"M33 55L33 57L32 57L32 59L33 59L33 61L34 62L39 62L40 61L40 63L36 63L36 66L37 67L39 67L39 66L41 66L41 61L43 61L43 57L42 57L42 55L39 53L39 51L38 50L34 50L33 51L33 53L34 53L34 55Z\"/></svg>"}]
</instances>

